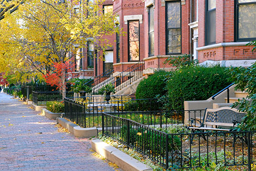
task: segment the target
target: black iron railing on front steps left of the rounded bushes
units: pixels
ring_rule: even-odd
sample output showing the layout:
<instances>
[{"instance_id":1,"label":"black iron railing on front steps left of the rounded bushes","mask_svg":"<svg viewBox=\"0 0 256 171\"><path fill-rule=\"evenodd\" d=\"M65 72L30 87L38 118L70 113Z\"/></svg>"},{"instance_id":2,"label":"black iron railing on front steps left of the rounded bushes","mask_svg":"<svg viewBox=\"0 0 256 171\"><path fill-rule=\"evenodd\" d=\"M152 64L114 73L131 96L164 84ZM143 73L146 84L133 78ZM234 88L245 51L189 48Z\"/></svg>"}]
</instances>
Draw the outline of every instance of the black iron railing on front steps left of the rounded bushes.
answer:
<instances>
[{"instance_id":1,"label":"black iron railing on front steps left of the rounded bushes","mask_svg":"<svg viewBox=\"0 0 256 171\"><path fill-rule=\"evenodd\" d=\"M106 86L107 84L113 84L117 92L118 90L126 87L127 85L141 78L144 69L144 61L140 61L136 63L134 66L131 66L127 68L125 71L117 74L117 76L110 77L109 79L106 79L100 84L97 84L97 86L93 87L92 91L93 93L96 93L103 86Z\"/></svg>"}]
</instances>

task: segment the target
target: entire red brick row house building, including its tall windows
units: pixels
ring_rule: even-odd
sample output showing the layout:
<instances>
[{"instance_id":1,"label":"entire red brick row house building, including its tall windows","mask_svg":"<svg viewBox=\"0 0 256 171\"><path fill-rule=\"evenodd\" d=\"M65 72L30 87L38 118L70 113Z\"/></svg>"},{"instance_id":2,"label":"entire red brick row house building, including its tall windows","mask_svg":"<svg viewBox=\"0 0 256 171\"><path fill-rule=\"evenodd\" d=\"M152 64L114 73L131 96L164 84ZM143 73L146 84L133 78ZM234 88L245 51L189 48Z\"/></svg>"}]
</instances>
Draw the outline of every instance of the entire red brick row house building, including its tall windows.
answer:
<instances>
[{"instance_id":1,"label":"entire red brick row house building, including its tall windows","mask_svg":"<svg viewBox=\"0 0 256 171\"><path fill-rule=\"evenodd\" d=\"M72 76L96 79L110 72L115 77L138 62L144 75L152 74L156 68L170 69L165 59L182 54L225 67L256 61L253 46L246 46L256 39L256 0L106 0L102 10L117 14L116 27L125 35L107 37L113 46L105 61L89 58L101 52L87 44Z\"/></svg>"}]
</instances>

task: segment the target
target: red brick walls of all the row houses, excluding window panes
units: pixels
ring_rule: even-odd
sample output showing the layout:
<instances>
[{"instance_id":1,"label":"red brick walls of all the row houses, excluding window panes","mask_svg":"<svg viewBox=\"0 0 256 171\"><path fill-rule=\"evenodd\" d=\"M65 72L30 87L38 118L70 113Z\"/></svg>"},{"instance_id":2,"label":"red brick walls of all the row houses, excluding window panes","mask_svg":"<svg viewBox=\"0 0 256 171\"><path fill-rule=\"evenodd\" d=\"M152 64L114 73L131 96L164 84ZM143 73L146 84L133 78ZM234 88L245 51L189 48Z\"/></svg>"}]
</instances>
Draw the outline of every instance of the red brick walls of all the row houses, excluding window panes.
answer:
<instances>
[{"instance_id":1,"label":"red brick walls of all the row houses, excluding window panes","mask_svg":"<svg viewBox=\"0 0 256 171\"><path fill-rule=\"evenodd\" d=\"M166 54L166 2L171 0L106 0L104 5L112 4L113 12L119 16L120 28L125 32L120 36L120 62L117 63L116 35L107 36L112 43L109 50L114 52L114 71L122 72L136 62L129 62L128 24L139 20L140 28L140 58L145 61L147 68L170 68L163 64L170 54ZM216 40L206 46L205 20L206 5L209 0L181 0L181 54L192 54L200 63L205 61L255 60L256 52L248 42L235 41L235 1L216 1ZM154 56L149 56L149 7L154 6ZM256 9L255 9L256 10ZM87 49L85 48L85 52ZM99 52L101 56L102 52ZM175 54L180 55L180 54ZM97 61L97 62L96 62ZM94 76L103 73L104 62L94 61ZM87 57L83 60L83 77L92 76L87 71ZM97 69L96 69L97 68ZM96 72L97 71L97 72Z\"/></svg>"}]
</instances>

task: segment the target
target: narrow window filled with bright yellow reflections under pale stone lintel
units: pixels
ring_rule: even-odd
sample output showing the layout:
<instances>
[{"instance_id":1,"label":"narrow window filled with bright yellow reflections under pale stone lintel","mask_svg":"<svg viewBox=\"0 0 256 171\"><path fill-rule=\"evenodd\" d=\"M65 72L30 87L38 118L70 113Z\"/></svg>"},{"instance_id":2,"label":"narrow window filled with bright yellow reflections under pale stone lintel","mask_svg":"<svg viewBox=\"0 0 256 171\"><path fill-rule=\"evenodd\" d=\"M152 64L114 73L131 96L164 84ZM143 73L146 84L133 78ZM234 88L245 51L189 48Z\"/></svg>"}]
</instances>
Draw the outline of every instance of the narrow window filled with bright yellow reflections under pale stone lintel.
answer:
<instances>
[{"instance_id":1,"label":"narrow window filled with bright yellow reflections under pale stone lintel","mask_svg":"<svg viewBox=\"0 0 256 171\"><path fill-rule=\"evenodd\" d=\"M129 21L129 61L139 61L140 59L140 28L139 21Z\"/></svg>"}]
</instances>

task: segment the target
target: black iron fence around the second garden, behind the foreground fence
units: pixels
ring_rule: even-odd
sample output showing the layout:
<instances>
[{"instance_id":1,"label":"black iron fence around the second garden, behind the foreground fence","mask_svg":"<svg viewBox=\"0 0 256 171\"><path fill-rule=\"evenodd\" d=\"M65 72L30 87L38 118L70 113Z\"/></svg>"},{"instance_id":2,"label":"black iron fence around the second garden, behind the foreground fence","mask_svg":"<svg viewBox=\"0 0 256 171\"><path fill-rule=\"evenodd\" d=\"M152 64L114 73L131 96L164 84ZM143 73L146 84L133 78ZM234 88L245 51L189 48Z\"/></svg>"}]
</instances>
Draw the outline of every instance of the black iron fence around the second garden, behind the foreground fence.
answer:
<instances>
[{"instance_id":1,"label":"black iron fence around the second garden, behind the foreground fence","mask_svg":"<svg viewBox=\"0 0 256 171\"><path fill-rule=\"evenodd\" d=\"M118 100L110 100L106 102L102 99L94 99L91 102L85 98L65 98L65 118L76 122L81 127L101 127L102 112L107 112L119 117L129 118L141 124L155 125L159 127L167 127L168 125L180 124L184 125L185 115L201 113L204 110L176 110L161 109L161 103L157 99L129 99L128 97L115 97ZM126 99L127 98L127 99ZM114 99L114 98L113 98ZM181 98L175 101L177 105L183 102Z\"/></svg>"}]
</instances>

